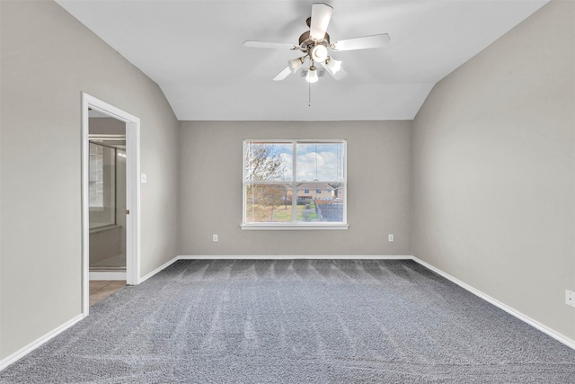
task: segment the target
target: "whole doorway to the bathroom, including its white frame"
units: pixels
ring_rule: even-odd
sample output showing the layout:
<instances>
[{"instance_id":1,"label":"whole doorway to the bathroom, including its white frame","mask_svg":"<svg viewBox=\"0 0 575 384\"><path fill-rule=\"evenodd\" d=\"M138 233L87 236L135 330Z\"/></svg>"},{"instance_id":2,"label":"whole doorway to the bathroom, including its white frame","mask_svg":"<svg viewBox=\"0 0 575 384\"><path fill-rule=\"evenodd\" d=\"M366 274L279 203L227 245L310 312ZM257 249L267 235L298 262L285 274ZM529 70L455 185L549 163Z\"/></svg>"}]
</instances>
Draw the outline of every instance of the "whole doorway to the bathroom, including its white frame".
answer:
<instances>
[{"instance_id":1,"label":"whole doorway to the bathroom, including its white frame","mask_svg":"<svg viewBox=\"0 0 575 384\"><path fill-rule=\"evenodd\" d=\"M139 283L139 119L82 94L82 307L90 280Z\"/></svg>"}]
</instances>

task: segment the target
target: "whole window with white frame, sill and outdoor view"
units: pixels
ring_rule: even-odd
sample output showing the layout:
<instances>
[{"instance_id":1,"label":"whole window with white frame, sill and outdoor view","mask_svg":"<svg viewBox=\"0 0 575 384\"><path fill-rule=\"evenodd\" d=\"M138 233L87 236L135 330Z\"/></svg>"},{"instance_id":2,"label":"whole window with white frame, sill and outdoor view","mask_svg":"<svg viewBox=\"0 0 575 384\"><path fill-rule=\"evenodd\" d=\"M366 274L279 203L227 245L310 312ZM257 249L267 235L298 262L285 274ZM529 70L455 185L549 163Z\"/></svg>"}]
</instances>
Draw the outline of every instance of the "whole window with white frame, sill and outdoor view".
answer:
<instances>
[{"instance_id":1,"label":"whole window with white frame, sill and outdoor view","mask_svg":"<svg viewBox=\"0 0 575 384\"><path fill-rule=\"evenodd\" d=\"M242 228L347 229L346 144L244 140Z\"/></svg>"}]
</instances>

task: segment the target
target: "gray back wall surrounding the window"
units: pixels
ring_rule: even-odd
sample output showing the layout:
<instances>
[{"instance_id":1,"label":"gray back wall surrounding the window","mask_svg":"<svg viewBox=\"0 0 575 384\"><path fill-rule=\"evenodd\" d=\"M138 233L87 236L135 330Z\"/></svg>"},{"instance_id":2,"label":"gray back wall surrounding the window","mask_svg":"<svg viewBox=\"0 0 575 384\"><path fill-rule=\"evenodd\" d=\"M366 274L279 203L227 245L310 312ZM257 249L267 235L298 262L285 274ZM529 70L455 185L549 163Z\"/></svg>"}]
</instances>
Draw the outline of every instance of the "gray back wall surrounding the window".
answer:
<instances>
[{"instance_id":1,"label":"gray back wall surrounding the window","mask_svg":"<svg viewBox=\"0 0 575 384\"><path fill-rule=\"evenodd\" d=\"M180 127L180 255L411 255L411 121L181 121ZM244 138L346 138L349 229L242 230Z\"/></svg>"}]
</instances>

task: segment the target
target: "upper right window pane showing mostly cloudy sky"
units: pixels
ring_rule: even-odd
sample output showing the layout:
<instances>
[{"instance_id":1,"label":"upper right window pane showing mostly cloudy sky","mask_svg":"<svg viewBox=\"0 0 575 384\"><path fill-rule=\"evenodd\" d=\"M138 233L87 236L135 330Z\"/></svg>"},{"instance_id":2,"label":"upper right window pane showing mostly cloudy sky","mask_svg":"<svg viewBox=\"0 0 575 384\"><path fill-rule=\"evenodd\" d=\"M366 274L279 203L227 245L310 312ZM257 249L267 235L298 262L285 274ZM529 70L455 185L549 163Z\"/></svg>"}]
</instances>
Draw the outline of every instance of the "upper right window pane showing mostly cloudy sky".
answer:
<instances>
[{"instance_id":1,"label":"upper right window pane showing mostly cloudy sky","mask_svg":"<svg viewBox=\"0 0 575 384\"><path fill-rule=\"evenodd\" d=\"M343 142L298 143L297 181L342 182L344 169Z\"/></svg>"}]
</instances>

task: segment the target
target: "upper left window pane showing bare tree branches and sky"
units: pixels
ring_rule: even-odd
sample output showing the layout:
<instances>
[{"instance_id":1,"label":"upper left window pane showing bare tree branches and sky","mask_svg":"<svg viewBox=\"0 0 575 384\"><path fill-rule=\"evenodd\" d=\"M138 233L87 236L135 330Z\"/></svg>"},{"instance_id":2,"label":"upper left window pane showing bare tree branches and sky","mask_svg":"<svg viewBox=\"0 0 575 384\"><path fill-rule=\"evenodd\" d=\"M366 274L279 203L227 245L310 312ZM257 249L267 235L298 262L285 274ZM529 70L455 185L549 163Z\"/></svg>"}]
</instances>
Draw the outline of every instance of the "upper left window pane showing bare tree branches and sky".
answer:
<instances>
[{"instance_id":1,"label":"upper left window pane showing bare tree branches and sky","mask_svg":"<svg viewBox=\"0 0 575 384\"><path fill-rule=\"evenodd\" d=\"M250 142L245 147L247 182L289 182L293 179L291 143Z\"/></svg>"}]
</instances>

